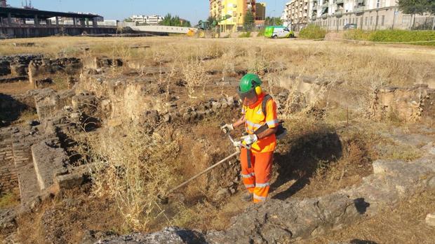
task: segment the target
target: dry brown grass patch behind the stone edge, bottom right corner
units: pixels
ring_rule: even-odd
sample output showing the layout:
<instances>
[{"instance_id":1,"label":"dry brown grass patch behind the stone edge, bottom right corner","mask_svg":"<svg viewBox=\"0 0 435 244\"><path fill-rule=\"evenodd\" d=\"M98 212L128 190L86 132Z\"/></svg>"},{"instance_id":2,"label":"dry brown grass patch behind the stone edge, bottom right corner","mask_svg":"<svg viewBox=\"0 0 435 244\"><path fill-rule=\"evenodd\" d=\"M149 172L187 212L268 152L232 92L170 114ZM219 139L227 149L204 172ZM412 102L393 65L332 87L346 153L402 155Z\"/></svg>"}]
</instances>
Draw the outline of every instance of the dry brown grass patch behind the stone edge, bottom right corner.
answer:
<instances>
[{"instance_id":1,"label":"dry brown grass patch behind the stone edge, bottom right corner","mask_svg":"<svg viewBox=\"0 0 435 244\"><path fill-rule=\"evenodd\" d=\"M332 231L325 236L304 243L330 243L332 241L361 240L385 244L434 243L435 229L424 223L428 213L434 213L435 192L424 192L410 196L397 208L384 207L375 217L367 217L350 227ZM359 243L359 242L355 242ZM361 242L366 243L366 242Z\"/></svg>"}]
</instances>

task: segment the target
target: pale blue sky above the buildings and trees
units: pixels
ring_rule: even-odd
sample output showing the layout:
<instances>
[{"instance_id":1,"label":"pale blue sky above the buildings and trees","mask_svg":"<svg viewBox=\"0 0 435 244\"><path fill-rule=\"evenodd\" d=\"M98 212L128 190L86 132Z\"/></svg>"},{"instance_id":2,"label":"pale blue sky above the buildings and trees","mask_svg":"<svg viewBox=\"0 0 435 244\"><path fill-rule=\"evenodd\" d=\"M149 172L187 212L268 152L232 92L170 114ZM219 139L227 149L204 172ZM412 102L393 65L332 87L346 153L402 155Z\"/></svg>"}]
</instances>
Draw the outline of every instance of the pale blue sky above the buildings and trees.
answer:
<instances>
[{"instance_id":1,"label":"pale blue sky above the buildings and trees","mask_svg":"<svg viewBox=\"0 0 435 244\"><path fill-rule=\"evenodd\" d=\"M29 1L29 0L27 0ZM267 16L281 16L284 3L289 0L263 0ZM20 7L25 0L7 0ZM34 8L61 12L97 13L105 20L123 20L131 15L166 15L171 13L192 24L208 17L208 0L32 0Z\"/></svg>"}]
</instances>

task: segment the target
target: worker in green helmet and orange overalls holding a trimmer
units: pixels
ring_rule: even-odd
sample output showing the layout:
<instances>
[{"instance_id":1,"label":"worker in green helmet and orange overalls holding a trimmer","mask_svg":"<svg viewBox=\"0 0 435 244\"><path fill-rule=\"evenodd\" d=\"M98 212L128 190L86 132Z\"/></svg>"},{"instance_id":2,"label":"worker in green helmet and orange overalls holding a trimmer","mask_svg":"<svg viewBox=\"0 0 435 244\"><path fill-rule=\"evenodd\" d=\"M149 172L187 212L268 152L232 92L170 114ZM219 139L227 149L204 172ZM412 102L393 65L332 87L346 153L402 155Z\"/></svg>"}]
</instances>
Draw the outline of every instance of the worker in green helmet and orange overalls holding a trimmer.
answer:
<instances>
[{"instance_id":1,"label":"worker in green helmet and orange overalls holding a trimmer","mask_svg":"<svg viewBox=\"0 0 435 244\"><path fill-rule=\"evenodd\" d=\"M242 199L259 203L267 199L272 161L276 147L276 130L279 121L276 117L276 103L262 92L262 81L248 73L240 80L239 95L243 101L242 116L233 124L225 124L222 130L232 131L241 124L245 125L247 136L242 136L243 144L250 150L241 148L241 177L248 189ZM265 111L263 111L263 108Z\"/></svg>"}]
</instances>

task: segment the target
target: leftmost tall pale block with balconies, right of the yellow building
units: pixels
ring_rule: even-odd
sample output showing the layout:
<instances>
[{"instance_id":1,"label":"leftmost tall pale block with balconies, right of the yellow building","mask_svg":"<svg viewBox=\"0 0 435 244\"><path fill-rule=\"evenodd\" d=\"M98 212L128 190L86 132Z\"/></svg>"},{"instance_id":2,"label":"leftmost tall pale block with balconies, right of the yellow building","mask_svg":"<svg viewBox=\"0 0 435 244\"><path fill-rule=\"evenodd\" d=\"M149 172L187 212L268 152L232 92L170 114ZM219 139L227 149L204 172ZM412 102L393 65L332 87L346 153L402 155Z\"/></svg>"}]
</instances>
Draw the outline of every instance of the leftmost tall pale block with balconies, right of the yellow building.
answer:
<instances>
[{"instance_id":1,"label":"leftmost tall pale block with balconies, right of the yellow building","mask_svg":"<svg viewBox=\"0 0 435 244\"><path fill-rule=\"evenodd\" d=\"M312 0L317 1L317 0ZM308 24L309 12L308 0L291 0L286 3L281 19L283 22L291 23L292 29L299 31Z\"/></svg>"}]
</instances>

